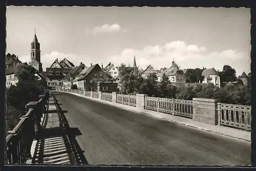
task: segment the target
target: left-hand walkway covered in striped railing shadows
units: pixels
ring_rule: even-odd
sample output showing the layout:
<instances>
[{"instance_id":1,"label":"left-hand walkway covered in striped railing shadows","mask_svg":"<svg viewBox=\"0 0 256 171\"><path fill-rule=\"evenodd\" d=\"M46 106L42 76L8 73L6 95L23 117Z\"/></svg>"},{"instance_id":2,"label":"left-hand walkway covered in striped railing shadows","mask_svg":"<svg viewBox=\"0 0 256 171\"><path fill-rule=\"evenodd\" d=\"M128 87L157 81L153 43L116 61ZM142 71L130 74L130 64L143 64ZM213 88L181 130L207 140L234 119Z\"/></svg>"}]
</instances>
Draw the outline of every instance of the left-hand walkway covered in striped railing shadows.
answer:
<instances>
[{"instance_id":1,"label":"left-hand walkway covered in striped railing shadows","mask_svg":"<svg viewBox=\"0 0 256 171\"><path fill-rule=\"evenodd\" d=\"M63 111L50 95L48 110L41 119L42 135L31 147L32 159L27 164L77 164L74 141Z\"/></svg>"}]
</instances>

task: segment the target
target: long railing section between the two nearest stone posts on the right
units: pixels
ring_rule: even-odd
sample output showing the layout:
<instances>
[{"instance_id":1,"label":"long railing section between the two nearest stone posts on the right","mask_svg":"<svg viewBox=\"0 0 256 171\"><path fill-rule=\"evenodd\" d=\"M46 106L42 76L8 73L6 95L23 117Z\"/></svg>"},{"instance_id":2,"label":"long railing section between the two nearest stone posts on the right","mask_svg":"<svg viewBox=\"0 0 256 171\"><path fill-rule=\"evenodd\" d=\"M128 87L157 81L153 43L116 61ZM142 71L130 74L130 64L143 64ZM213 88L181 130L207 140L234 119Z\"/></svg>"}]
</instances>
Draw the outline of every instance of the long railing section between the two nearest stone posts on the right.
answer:
<instances>
[{"instance_id":1,"label":"long railing section between the two nearest stone posts on the right","mask_svg":"<svg viewBox=\"0 0 256 171\"><path fill-rule=\"evenodd\" d=\"M193 118L193 100L146 97L147 110Z\"/></svg>"}]
</instances>

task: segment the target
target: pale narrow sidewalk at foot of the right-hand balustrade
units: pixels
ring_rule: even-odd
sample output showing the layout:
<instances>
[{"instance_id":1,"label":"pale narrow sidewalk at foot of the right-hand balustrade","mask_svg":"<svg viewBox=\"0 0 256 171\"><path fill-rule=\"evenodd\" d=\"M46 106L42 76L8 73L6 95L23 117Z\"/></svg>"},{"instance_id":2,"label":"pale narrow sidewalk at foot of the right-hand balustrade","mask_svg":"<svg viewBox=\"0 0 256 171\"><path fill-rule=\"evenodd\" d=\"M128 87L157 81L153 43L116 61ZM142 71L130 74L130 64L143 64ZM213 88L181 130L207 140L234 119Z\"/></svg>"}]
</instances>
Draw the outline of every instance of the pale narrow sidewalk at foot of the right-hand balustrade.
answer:
<instances>
[{"instance_id":1,"label":"pale narrow sidewalk at foot of the right-hand balustrade","mask_svg":"<svg viewBox=\"0 0 256 171\"><path fill-rule=\"evenodd\" d=\"M59 91L56 91L56 92L59 92ZM173 116L170 114L165 114L165 113L160 113L160 112L155 112L155 111L150 111L150 110L144 110L143 112L138 112L134 106L124 105L124 104L120 104L120 103L113 103L111 101L100 100L97 98L83 96L81 94L76 94L76 93L70 93L70 92L65 92L65 93L73 94L76 96L88 98L88 99L95 100L95 101L100 101L102 103L114 105L114 106L117 106L117 107L125 109L125 110L134 111L136 113L144 113L147 115L151 115L153 117L157 117L157 118L165 119L168 121L184 124L187 126L195 127L197 129L201 129L204 131L209 131L212 133L228 136L231 138L236 138L236 139L241 139L241 140L251 142L251 132L233 129L231 127L226 127L226 126L210 125L210 124L206 124L206 123L202 123L202 122L197 122L197 121L189 119L189 118Z\"/></svg>"}]
</instances>

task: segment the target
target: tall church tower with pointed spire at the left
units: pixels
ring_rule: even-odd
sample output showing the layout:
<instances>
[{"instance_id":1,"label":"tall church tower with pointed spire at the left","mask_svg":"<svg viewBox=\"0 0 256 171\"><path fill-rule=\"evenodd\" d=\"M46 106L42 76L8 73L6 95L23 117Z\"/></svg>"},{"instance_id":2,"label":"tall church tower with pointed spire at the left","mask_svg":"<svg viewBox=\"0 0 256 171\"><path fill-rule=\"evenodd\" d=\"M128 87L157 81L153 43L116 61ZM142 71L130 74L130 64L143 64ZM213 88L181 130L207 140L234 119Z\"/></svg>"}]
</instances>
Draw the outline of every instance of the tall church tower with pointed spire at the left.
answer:
<instances>
[{"instance_id":1,"label":"tall church tower with pointed spire at the left","mask_svg":"<svg viewBox=\"0 0 256 171\"><path fill-rule=\"evenodd\" d=\"M29 65L33 66L38 71L42 71L42 63L41 63L41 56L40 56L40 44L37 40L36 33L34 35L33 41L31 42Z\"/></svg>"}]
</instances>

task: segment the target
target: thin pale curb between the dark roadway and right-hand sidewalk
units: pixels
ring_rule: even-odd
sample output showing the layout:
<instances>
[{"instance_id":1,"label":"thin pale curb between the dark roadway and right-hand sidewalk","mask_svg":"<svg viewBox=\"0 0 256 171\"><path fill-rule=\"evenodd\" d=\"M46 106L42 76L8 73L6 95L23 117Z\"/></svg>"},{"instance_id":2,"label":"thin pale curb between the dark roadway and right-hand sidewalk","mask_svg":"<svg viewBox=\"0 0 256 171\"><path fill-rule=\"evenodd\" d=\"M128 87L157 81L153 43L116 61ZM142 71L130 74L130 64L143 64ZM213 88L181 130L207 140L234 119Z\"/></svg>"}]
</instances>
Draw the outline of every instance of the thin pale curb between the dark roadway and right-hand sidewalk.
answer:
<instances>
[{"instance_id":1,"label":"thin pale curb between the dark roadway and right-hand sidewalk","mask_svg":"<svg viewBox=\"0 0 256 171\"><path fill-rule=\"evenodd\" d=\"M53 91L61 92L61 91L57 91L57 90L53 90ZM75 94L75 93L70 93L70 92L63 92L63 93L73 94L73 95L76 95L76 96L80 96L80 97L82 97L82 98L87 98L87 99L91 99L91 100L94 100L94 101L102 102L102 103L104 103L104 104L109 104L109 105L112 105L112 106L116 106L117 108L122 108L122 109L124 109L124 110L129 110L129 111L133 111L133 112L137 112L137 113L142 113L142 114L150 115L150 116L153 116L153 117L156 117L156 118L164 119L164 120L169 121L169 122L175 122L175 123L183 124L183 125L186 125L186 126L194 127L194 128L196 128L196 129L199 129L199 130L203 130L203 131L207 131L207 132L211 132L211 133L215 133L215 134L219 134L219 135L223 135L223 136L226 136L226 137L231 137L231 138L235 138L235 139L239 139L239 140L243 140L243 141L246 141L246 142L250 142L250 143L251 143L251 140L247 140L247 139L239 138L239 137L234 137L234 136L227 135L227 134L223 134L223 133L220 133L220 132L215 132L215 131L212 131L212 130L209 130L209 129L205 129L205 128L203 128L203 127L199 127L199 126L195 126L195 125L183 123L183 122L177 121L177 120L175 120L175 119L170 120L170 119L166 119L166 118L164 118L164 117L158 117L158 116L153 115L153 114L150 114L150 113L138 112L138 111L135 111L135 110L132 110L132 109L127 109L127 108L122 107L122 106L118 106L118 105L106 103L106 102L104 102L104 101L100 101L100 100L96 100L96 99L93 99L93 98L89 98L88 96L83 96L83 95L81 95L81 94Z\"/></svg>"}]
</instances>

